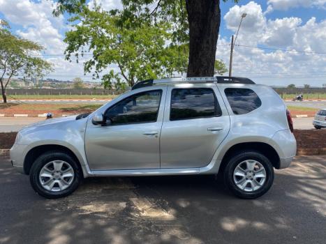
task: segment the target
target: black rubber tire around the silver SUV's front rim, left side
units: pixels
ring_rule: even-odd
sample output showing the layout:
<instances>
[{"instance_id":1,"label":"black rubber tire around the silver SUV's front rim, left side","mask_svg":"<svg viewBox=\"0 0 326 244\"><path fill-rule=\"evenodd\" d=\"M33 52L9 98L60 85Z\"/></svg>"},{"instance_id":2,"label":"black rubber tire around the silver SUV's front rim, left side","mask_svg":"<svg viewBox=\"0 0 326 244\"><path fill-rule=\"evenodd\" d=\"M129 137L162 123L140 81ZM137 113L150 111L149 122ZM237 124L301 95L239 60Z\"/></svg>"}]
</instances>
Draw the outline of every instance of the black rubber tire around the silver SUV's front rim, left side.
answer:
<instances>
[{"instance_id":1,"label":"black rubber tire around the silver SUV's front rim, left side","mask_svg":"<svg viewBox=\"0 0 326 244\"><path fill-rule=\"evenodd\" d=\"M73 181L71 181L68 188L60 190L58 192L46 190L45 188L43 188L39 180L40 170L48 162L51 162L53 160L62 160L64 162L67 162L69 165L71 165L71 167L73 168L73 173L75 174L75 176L73 177ZM29 180L31 182L32 188L38 193L38 195L41 195L42 197L46 197L48 199L55 199L71 195L71 193L73 193L78 188L78 185L82 180L82 172L80 171L80 167L78 167L77 162L75 162L71 155L60 151L48 151L40 155L31 166L31 170L29 172Z\"/></svg>"}]
</instances>

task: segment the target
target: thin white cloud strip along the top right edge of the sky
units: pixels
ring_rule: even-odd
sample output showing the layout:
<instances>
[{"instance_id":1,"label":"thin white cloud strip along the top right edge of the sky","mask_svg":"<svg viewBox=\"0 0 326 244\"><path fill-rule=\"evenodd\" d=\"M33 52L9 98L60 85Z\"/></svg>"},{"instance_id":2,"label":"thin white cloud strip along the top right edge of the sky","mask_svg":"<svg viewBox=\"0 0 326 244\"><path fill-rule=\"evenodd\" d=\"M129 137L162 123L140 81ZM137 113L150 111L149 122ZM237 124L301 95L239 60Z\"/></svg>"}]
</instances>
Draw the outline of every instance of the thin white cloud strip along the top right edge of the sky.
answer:
<instances>
[{"instance_id":1,"label":"thin white cloud strip along the top right edge of the sky","mask_svg":"<svg viewBox=\"0 0 326 244\"><path fill-rule=\"evenodd\" d=\"M326 0L268 0L270 4L276 10L288 10L289 8L298 7L320 7L324 8L326 6Z\"/></svg>"}]
</instances>

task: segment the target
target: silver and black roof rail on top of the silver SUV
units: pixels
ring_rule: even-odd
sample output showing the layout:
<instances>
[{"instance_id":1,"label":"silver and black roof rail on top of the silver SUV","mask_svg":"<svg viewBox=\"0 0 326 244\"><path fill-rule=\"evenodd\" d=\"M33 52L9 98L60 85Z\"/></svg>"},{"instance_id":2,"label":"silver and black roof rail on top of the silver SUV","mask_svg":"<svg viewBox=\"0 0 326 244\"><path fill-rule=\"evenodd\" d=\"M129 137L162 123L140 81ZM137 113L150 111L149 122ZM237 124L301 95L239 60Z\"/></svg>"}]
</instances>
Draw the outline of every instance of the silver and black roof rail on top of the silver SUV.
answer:
<instances>
[{"instance_id":1,"label":"silver and black roof rail on top of the silver SUV","mask_svg":"<svg viewBox=\"0 0 326 244\"><path fill-rule=\"evenodd\" d=\"M223 83L223 84L255 84L249 78L242 77L179 77L166 79L147 79L142 82L137 82L133 85L131 90L139 89L141 87L153 86L153 84L169 84L169 83Z\"/></svg>"}]
</instances>

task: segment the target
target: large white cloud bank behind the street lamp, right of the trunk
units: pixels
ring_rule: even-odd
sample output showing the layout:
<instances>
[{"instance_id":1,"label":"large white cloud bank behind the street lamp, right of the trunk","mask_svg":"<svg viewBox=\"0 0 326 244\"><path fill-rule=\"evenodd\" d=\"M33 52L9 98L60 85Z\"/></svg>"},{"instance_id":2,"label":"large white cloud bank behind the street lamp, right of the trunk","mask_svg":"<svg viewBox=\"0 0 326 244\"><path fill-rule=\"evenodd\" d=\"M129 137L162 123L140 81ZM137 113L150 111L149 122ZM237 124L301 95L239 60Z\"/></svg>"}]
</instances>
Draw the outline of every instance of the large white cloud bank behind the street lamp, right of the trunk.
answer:
<instances>
[{"instance_id":1,"label":"large white cloud bank behind the street lamp, right of the trunk","mask_svg":"<svg viewBox=\"0 0 326 244\"><path fill-rule=\"evenodd\" d=\"M236 31L242 13L247 17L237 38L237 45L252 47L267 46L279 49L305 52L326 52L326 20L317 22L311 17L308 22L302 22L299 17L284 17L281 19L267 19L266 12L257 3L251 1L244 6L234 6L225 15L224 20L228 29ZM219 43L230 43L221 39ZM301 75L297 80L291 76L312 74L316 71L326 73L326 55L302 54L298 52L283 52L281 50L266 50L252 47L235 47L234 73L235 75L249 76L258 79L258 82L272 84L286 84L293 82L310 82ZM226 59L230 55L230 47L218 47L218 57ZM274 77L265 79L262 77ZM317 78L316 78L317 79ZM320 83L322 83L320 78ZM325 83L325 82L324 82ZM270 83L269 83L270 84Z\"/></svg>"}]
</instances>

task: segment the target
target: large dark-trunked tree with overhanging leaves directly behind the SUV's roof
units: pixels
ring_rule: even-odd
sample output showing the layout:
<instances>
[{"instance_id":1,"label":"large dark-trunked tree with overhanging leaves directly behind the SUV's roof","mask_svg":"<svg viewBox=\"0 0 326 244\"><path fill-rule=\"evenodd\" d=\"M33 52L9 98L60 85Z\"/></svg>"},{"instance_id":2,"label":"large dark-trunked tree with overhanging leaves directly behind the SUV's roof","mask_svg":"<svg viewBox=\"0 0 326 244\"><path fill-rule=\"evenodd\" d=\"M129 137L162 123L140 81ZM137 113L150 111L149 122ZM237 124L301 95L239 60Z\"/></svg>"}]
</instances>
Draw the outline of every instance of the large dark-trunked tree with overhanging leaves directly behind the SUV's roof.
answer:
<instances>
[{"instance_id":1,"label":"large dark-trunked tree with overhanging leaves directly behind the SUV's roof","mask_svg":"<svg viewBox=\"0 0 326 244\"><path fill-rule=\"evenodd\" d=\"M140 26L144 27L144 23L150 28L155 28L162 22L170 23L169 33L173 42L177 45L187 44L189 47L187 76L214 75L221 24L220 0L121 0L121 3L123 10L112 10L111 13L116 13L117 23L123 25L124 29L133 31ZM85 6L85 0L58 0L53 13L81 15ZM105 21L108 20L103 20Z\"/></svg>"}]
</instances>

